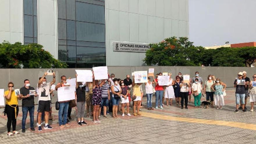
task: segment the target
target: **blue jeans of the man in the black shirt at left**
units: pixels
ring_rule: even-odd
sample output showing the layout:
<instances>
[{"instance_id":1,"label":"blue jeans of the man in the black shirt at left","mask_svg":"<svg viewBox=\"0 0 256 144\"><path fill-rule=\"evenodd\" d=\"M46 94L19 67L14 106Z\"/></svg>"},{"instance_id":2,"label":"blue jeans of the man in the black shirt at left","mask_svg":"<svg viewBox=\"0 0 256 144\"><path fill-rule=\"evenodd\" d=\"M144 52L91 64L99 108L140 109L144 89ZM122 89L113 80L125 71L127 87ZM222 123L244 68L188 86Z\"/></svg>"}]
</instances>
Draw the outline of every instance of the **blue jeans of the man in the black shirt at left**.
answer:
<instances>
[{"instance_id":1,"label":"blue jeans of the man in the black shirt at left","mask_svg":"<svg viewBox=\"0 0 256 144\"><path fill-rule=\"evenodd\" d=\"M35 106L22 106L22 129L25 129L26 119L29 112L30 128L34 127Z\"/></svg>"}]
</instances>

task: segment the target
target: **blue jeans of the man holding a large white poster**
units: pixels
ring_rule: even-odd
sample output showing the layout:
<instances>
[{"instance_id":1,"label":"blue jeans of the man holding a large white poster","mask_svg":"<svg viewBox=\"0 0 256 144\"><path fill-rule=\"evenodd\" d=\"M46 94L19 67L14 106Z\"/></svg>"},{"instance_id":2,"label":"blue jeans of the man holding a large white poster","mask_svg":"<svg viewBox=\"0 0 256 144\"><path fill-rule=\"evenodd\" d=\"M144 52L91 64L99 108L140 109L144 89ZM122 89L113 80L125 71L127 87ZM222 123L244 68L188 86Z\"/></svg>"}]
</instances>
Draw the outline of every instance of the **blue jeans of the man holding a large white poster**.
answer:
<instances>
[{"instance_id":1,"label":"blue jeans of the man holding a large white poster","mask_svg":"<svg viewBox=\"0 0 256 144\"><path fill-rule=\"evenodd\" d=\"M60 102L60 109L59 109L59 125L60 126L66 125L67 123L68 106L69 106L69 102Z\"/></svg>"}]
</instances>

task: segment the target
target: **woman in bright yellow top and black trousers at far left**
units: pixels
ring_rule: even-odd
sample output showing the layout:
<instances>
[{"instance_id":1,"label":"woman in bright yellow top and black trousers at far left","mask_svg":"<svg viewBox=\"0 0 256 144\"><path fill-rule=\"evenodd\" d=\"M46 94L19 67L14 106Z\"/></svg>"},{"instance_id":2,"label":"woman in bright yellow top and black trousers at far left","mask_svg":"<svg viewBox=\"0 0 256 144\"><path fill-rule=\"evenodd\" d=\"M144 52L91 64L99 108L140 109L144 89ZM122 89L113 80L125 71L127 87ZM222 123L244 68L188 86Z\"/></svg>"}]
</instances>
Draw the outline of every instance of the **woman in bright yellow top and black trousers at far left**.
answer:
<instances>
[{"instance_id":1,"label":"woman in bright yellow top and black trousers at far left","mask_svg":"<svg viewBox=\"0 0 256 144\"><path fill-rule=\"evenodd\" d=\"M7 135L13 136L19 134L16 131L17 116L19 113L18 99L21 99L20 95L15 95L14 84L8 83L9 90L4 92L3 97L6 98L6 105L4 113L7 114ZM11 132L11 125L13 126L13 132Z\"/></svg>"}]
</instances>

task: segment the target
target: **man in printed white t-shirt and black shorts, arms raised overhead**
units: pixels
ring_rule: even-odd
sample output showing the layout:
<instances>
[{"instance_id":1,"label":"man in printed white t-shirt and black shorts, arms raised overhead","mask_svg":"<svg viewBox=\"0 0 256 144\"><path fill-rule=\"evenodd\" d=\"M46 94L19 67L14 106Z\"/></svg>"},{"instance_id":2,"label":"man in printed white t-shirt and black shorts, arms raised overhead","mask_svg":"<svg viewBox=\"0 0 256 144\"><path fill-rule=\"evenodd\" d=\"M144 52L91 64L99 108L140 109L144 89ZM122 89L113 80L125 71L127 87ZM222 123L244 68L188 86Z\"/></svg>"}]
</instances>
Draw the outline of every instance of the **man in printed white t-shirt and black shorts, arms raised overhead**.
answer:
<instances>
[{"instance_id":1,"label":"man in printed white t-shirt and black shorts, arms raised overhead","mask_svg":"<svg viewBox=\"0 0 256 144\"><path fill-rule=\"evenodd\" d=\"M49 111L51 110L51 97L50 97L50 89L51 85L53 85L56 81L55 73L53 73L53 80L50 83L47 83L45 76L47 72L44 73L42 77L39 78L38 81L38 131L42 131L41 120L42 113L45 112L45 129L52 129L52 127L48 124L49 119Z\"/></svg>"}]
</instances>

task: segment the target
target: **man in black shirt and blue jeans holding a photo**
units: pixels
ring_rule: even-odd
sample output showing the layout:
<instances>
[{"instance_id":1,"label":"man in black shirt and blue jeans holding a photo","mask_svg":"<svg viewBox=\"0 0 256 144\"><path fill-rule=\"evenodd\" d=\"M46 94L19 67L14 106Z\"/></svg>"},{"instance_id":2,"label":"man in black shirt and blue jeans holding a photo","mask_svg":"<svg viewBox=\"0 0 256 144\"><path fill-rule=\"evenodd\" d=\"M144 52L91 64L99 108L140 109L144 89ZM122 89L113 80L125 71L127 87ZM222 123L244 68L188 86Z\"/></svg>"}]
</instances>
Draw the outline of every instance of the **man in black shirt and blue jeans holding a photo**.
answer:
<instances>
[{"instance_id":1,"label":"man in black shirt and blue jeans holding a photo","mask_svg":"<svg viewBox=\"0 0 256 144\"><path fill-rule=\"evenodd\" d=\"M35 110L35 104L34 104L34 96L37 97L37 94L29 95L29 90L35 90L35 88L30 86L30 82L28 79L24 80L24 87L20 88L20 95L22 98L22 132L26 132L25 130L25 124L26 124L26 118L27 114L29 112L30 117L30 129L32 131L35 131L34 128L34 110Z\"/></svg>"}]
</instances>

